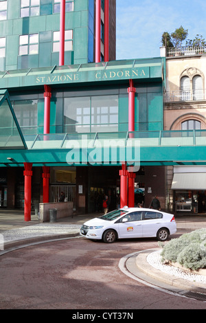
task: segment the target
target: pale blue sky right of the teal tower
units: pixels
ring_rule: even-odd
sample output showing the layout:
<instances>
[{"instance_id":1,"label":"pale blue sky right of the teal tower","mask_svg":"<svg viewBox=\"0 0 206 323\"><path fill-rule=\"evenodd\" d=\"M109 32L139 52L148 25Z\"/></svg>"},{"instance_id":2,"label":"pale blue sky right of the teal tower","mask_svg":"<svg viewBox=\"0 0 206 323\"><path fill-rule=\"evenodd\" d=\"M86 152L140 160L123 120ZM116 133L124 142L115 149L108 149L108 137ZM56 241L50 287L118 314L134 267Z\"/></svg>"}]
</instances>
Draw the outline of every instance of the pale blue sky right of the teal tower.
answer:
<instances>
[{"instance_id":1,"label":"pale blue sky right of the teal tower","mask_svg":"<svg viewBox=\"0 0 206 323\"><path fill-rule=\"evenodd\" d=\"M160 56L161 36L183 26L206 41L205 0L117 0L116 59Z\"/></svg>"}]
</instances>

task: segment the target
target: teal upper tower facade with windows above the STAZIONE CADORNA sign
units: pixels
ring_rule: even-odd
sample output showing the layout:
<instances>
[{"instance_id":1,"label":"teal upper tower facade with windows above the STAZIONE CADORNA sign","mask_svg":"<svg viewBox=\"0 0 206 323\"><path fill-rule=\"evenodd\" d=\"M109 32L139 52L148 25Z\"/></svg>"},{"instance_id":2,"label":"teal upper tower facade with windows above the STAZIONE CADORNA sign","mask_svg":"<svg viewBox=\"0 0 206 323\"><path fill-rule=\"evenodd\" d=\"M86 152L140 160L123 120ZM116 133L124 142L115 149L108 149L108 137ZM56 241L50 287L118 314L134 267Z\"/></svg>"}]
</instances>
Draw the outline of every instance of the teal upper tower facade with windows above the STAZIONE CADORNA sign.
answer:
<instances>
[{"instance_id":1,"label":"teal upper tower facade with windows above the STAZIONE CADORNA sign","mask_svg":"<svg viewBox=\"0 0 206 323\"><path fill-rule=\"evenodd\" d=\"M104 60L104 1L100 49ZM109 59L115 60L116 1L109 3ZM95 0L65 0L65 65L95 61ZM60 0L0 1L0 70L59 65Z\"/></svg>"}]
</instances>

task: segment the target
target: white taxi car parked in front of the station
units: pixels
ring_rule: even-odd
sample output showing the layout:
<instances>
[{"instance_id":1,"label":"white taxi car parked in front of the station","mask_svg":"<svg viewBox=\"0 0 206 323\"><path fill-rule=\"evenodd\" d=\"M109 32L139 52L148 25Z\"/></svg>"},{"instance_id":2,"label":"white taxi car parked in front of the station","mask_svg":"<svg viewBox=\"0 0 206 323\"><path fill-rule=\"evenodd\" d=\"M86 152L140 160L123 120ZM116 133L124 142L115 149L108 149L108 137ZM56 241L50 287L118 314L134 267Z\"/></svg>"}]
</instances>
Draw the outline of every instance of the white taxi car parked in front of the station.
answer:
<instances>
[{"instance_id":1,"label":"white taxi car parked in front of the station","mask_svg":"<svg viewBox=\"0 0 206 323\"><path fill-rule=\"evenodd\" d=\"M165 241L176 232L174 214L146 208L111 211L82 225L80 234L89 239L113 243L118 238L157 237Z\"/></svg>"}]
</instances>

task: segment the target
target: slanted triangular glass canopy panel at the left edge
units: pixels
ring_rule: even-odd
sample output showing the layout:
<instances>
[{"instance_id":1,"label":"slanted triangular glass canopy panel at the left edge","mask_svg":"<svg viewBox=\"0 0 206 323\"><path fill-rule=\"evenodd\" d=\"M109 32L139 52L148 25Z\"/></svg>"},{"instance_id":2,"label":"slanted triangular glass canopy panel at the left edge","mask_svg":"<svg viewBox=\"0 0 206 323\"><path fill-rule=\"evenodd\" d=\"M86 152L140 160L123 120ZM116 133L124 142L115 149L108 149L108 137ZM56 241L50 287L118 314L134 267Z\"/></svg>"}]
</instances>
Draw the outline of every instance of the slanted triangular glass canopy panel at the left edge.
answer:
<instances>
[{"instance_id":1,"label":"slanted triangular glass canopy panel at the left edge","mask_svg":"<svg viewBox=\"0 0 206 323\"><path fill-rule=\"evenodd\" d=\"M8 99L0 101L0 148L25 148L23 136L16 121L15 115L12 114Z\"/></svg>"}]
</instances>

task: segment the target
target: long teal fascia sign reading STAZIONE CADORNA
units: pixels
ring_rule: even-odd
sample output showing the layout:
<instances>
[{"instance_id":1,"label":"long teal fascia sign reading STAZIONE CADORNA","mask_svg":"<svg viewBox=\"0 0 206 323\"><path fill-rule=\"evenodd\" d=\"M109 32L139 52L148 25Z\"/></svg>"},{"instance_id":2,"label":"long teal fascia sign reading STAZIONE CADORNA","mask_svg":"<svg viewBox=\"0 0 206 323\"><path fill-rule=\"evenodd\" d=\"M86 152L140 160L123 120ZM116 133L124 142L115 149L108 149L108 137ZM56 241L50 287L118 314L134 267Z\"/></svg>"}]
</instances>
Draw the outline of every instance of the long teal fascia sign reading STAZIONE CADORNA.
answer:
<instances>
[{"instance_id":1,"label":"long teal fascia sign reading STAZIONE CADORNA","mask_svg":"<svg viewBox=\"0 0 206 323\"><path fill-rule=\"evenodd\" d=\"M141 60L141 63L129 61L113 65L70 65L62 67L35 68L13 71L5 71L0 75L0 88L12 89L23 87L38 87L42 85L67 85L89 82L112 82L119 80L163 80L164 63L161 58L153 60Z\"/></svg>"}]
</instances>

